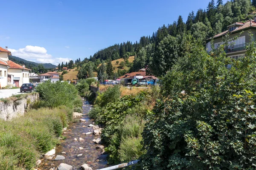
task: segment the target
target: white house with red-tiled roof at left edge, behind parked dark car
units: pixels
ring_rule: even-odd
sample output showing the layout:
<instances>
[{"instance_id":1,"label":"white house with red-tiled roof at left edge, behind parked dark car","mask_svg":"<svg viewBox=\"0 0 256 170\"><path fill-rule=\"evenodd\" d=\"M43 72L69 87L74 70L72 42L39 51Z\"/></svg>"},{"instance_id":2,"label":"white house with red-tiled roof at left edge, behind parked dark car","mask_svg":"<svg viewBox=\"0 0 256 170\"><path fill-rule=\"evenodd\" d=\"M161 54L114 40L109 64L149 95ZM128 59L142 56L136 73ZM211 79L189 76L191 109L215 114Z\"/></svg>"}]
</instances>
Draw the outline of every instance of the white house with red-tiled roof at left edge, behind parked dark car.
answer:
<instances>
[{"instance_id":1,"label":"white house with red-tiled roof at left edge, behind parked dark car","mask_svg":"<svg viewBox=\"0 0 256 170\"><path fill-rule=\"evenodd\" d=\"M30 69L9 60L11 55L7 47L0 47L0 88L6 85L20 87L23 83L29 83Z\"/></svg>"}]
</instances>

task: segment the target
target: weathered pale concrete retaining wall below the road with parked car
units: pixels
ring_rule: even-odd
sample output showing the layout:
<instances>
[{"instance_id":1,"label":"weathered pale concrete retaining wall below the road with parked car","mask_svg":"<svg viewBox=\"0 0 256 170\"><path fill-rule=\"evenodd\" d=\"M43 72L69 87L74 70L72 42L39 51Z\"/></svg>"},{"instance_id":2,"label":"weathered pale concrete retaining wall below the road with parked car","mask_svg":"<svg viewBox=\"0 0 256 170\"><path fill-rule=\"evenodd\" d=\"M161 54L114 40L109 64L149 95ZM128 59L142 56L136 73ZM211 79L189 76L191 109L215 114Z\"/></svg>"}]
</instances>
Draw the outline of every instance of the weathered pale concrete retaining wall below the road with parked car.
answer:
<instances>
[{"instance_id":1,"label":"weathered pale concrete retaining wall below the road with parked car","mask_svg":"<svg viewBox=\"0 0 256 170\"><path fill-rule=\"evenodd\" d=\"M0 119L10 120L17 116L23 116L29 105L39 100L38 93L28 94L26 97L10 97L0 102Z\"/></svg>"}]
</instances>

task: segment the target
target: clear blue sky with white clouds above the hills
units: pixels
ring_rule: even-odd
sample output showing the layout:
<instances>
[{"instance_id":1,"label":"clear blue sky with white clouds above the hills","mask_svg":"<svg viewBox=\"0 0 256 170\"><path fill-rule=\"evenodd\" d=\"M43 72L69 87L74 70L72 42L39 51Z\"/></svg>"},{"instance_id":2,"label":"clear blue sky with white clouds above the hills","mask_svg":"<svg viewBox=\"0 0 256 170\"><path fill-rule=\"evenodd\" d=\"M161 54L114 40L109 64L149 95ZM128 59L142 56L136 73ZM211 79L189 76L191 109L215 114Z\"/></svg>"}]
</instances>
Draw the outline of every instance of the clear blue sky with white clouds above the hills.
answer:
<instances>
[{"instance_id":1,"label":"clear blue sky with white clouds above the hills","mask_svg":"<svg viewBox=\"0 0 256 170\"><path fill-rule=\"evenodd\" d=\"M226 2L227 0L224 0ZM139 41L209 0L2 0L0 46L35 62L84 59L115 43Z\"/></svg>"}]
</instances>

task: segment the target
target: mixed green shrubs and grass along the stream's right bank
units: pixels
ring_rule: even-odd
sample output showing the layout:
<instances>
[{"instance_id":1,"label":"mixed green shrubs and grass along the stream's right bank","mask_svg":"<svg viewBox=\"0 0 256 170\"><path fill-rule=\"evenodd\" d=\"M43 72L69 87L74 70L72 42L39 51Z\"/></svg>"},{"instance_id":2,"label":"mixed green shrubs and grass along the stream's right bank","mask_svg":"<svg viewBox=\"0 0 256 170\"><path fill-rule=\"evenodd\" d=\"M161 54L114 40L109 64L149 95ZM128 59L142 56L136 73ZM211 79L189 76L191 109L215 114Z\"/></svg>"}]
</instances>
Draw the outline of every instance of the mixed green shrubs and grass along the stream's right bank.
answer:
<instances>
[{"instance_id":1,"label":"mixed green shrubs and grass along the stream's right bank","mask_svg":"<svg viewBox=\"0 0 256 170\"><path fill-rule=\"evenodd\" d=\"M110 153L110 164L131 161L145 154L141 144L144 118L158 94L159 87L156 86L148 91L121 96L120 87L116 85L96 98L89 116L104 126L101 137L108 145L105 150Z\"/></svg>"}]
</instances>

